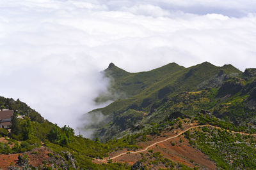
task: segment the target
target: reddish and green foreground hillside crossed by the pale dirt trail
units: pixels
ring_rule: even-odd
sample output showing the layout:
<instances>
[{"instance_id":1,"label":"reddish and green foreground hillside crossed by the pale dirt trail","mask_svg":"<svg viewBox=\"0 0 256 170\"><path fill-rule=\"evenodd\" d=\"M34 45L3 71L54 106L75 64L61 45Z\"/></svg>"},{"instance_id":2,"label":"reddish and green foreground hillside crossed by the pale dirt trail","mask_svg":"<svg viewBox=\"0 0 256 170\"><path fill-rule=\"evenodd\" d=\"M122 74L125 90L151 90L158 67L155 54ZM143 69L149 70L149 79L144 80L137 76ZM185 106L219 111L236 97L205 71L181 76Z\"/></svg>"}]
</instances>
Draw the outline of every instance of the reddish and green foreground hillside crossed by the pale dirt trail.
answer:
<instances>
[{"instance_id":1,"label":"reddish and green foreground hillside crossed by the pale dirt trail","mask_svg":"<svg viewBox=\"0 0 256 170\"><path fill-rule=\"evenodd\" d=\"M139 150L115 151L93 162L129 162L150 169L255 169L256 134L208 114L170 117L134 136Z\"/></svg>"}]
</instances>

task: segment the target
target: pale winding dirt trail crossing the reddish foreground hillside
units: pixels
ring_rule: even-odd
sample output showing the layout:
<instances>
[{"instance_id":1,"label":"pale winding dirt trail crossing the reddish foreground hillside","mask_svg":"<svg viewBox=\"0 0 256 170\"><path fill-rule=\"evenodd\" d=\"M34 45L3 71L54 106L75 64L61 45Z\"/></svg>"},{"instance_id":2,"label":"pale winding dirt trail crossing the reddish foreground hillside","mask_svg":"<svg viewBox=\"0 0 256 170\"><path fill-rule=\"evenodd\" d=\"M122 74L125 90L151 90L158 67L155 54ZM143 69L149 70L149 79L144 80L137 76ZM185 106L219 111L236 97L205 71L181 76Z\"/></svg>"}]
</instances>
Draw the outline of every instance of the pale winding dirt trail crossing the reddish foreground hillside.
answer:
<instances>
[{"instance_id":1,"label":"pale winding dirt trail crossing the reddish foreground hillside","mask_svg":"<svg viewBox=\"0 0 256 170\"><path fill-rule=\"evenodd\" d=\"M164 139L163 141L158 141L156 143L153 143L152 145L149 145L147 146L147 148L143 149L143 150L138 150L136 152L124 152L124 153L120 153L119 155L116 155L115 157L110 157L109 159L95 159L95 160L98 160L98 161L107 161L107 160L113 160L113 159L116 159L118 157L121 157L122 155L125 155L125 154L131 154L131 153L140 153L140 152L145 152L148 150L148 148L151 148L152 146L154 145L157 145L158 143L163 143L165 141L168 141L170 139L173 139L173 138L177 138L180 136L180 134L183 134L184 132L186 131L189 131L190 129L195 129L195 128L198 128L198 127L214 127L214 128L217 128L217 129L221 129L221 127L216 127L214 125L196 125L196 126L193 126L193 127L189 127L188 129L184 130L184 131L181 131L179 132L179 134L175 135L175 136L172 136L170 138L166 138ZM248 133L244 133L244 132L236 132L236 131L230 131L230 130L227 130L228 132L233 132L233 133L239 133L239 134L244 134L244 135L251 135L251 136L256 136L256 134L248 134Z\"/></svg>"}]
</instances>

